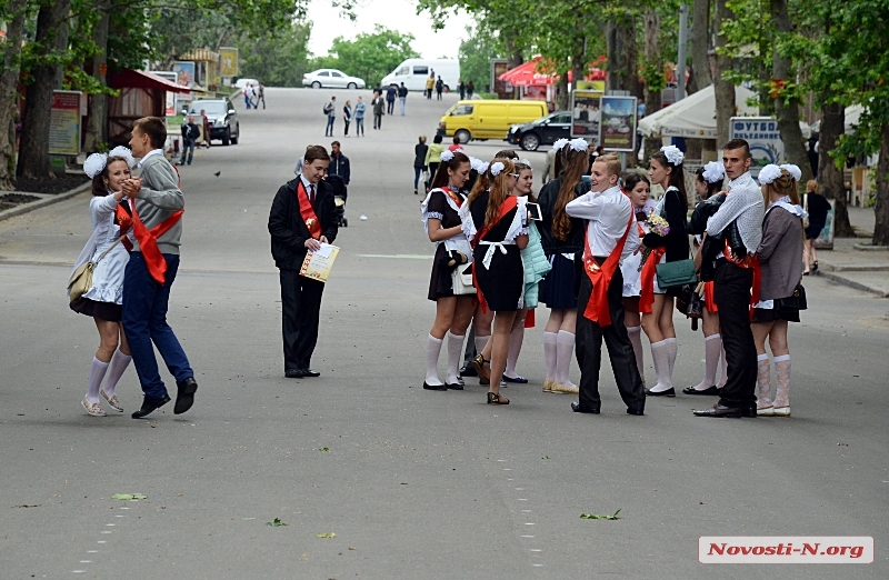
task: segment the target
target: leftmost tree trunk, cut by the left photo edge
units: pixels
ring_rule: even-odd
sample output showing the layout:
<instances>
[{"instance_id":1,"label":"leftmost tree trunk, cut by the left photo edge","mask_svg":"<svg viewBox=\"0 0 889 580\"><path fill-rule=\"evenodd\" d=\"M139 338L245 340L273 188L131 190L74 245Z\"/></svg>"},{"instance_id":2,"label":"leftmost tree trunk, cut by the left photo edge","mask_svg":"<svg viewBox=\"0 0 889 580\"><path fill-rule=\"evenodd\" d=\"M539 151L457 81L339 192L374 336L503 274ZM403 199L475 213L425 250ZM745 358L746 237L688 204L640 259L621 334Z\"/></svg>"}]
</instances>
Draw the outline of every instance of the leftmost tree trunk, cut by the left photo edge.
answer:
<instances>
[{"instance_id":1,"label":"leftmost tree trunk, cut by the left photo edge","mask_svg":"<svg viewBox=\"0 0 889 580\"><path fill-rule=\"evenodd\" d=\"M14 190L16 176L16 109L19 100L21 39L28 0L9 0L7 39L3 44L3 71L0 74L0 189Z\"/></svg>"}]
</instances>

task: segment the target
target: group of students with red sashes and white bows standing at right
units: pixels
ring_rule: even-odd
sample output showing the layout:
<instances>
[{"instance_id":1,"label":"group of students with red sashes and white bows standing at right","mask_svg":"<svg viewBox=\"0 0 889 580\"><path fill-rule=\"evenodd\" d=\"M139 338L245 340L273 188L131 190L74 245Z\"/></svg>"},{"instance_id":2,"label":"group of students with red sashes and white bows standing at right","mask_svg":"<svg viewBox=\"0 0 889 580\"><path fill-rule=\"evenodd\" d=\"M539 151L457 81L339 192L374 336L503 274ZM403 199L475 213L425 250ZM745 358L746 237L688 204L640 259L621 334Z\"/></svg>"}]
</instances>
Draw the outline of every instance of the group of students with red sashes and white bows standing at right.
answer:
<instances>
[{"instance_id":1,"label":"group of students with red sashes and white bows standing at right","mask_svg":"<svg viewBox=\"0 0 889 580\"><path fill-rule=\"evenodd\" d=\"M461 150L442 153L422 202L427 234L437 244L428 294L437 311L423 388L462 390L459 364L472 322L479 352L472 367L489 384L488 402L508 403L499 391L501 380L527 382L515 366L531 318L528 309L539 296L550 309L543 391L577 393L572 410L599 413L605 340L627 412L643 414L647 397L676 397L673 308L688 286L702 303L706 363L703 380L682 392L720 397L696 416L789 417L787 330L805 308L799 294L805 292L807 213L797 193L799 169L768 166L757 184L749 173L748 143L733 140L721 163L698 170L695 182L702 201L689 220L678 148L652 156L648 176L622 173L616 156L591 162L582 139L559 140L553 149L557 177L538 199L530 166L512 151L498 153L490 163ZM650 199L652 183L665 190L657 202ZM529 214L529 201L539 204L539 216ZM810 222L809 229L820 230L813 218ZM680 261L693 264L701 283L661 288L658 267ZM649 389L643 387L642 332L657 378ZM442 382L437 364L446 334ZM767 339L777 374L773 396ZM579 386L569 378L572 357L581 371Z\"/></svg>"}]
</instances>

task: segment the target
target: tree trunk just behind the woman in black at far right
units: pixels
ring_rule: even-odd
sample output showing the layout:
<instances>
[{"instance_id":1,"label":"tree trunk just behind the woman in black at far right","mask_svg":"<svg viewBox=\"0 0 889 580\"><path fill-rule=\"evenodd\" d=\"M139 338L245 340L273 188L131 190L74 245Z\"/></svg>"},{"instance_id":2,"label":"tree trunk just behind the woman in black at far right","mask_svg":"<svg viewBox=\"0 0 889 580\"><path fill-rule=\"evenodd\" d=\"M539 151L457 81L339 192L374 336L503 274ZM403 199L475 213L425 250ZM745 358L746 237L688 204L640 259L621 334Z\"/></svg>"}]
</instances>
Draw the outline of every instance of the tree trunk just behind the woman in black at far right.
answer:
<instances>
[{"instance_id":1,"label":"tree trunk just behind the woman in black at far right","mask_svg":"<svg viewBox=\"0 0 889 580\"><path fill-rule=\"evenodd\" d=\"M833 203L833 236L853 238L855 230L849 223L849 210L846 207L846 187L842 182L842 169L830 157L837 148L837 140L846 130L846 110L842 104L825 104L821 107L821 133L818 150L818 184L821 192ZM845 161L845 160L843 160Z\"/></svg>"}]
</instances>

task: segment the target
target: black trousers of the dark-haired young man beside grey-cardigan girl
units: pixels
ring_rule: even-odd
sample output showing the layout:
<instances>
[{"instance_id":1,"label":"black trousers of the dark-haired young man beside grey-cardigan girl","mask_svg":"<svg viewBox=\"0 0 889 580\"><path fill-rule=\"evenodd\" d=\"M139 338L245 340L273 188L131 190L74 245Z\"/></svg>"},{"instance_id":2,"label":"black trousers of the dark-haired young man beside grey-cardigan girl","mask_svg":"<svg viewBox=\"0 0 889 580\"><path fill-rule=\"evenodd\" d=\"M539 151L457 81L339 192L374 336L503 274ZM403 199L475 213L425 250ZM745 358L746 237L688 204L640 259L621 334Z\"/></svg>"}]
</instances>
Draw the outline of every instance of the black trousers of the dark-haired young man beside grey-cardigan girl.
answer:
<instances>
[{"instance_id":1,"label":"black trousers of the dark-haired young man beside grey-cardigan girl","mask_svg":"<svg viewBox=\"0 0 889 580\"><path fill-rule=\"evenodd\" d=\"M719 260L713 278L713 299L719 306L719 333L726 348L728 381L719 404L756 404L757 347L750 330L750 287L753 271Z\"/></svg>"}]
</instances>

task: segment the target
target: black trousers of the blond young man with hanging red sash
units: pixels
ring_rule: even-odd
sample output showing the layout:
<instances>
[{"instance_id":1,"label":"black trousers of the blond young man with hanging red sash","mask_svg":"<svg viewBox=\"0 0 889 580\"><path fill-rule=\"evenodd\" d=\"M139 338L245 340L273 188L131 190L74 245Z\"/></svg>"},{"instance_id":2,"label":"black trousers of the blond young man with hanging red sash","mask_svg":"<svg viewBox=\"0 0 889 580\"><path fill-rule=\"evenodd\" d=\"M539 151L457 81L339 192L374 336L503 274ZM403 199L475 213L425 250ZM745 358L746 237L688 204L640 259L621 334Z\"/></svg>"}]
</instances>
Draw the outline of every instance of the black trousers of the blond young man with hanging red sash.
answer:
<instances>
[{"instance_id":1,"label":"black trousers of the blond young man with hanging red sash","mask_svg":"<svg viewBox=\"0 0 889 580\"><path fill-rule=\"evenodd\" d=\"M628 409L645 409L646 393L642 388L642 378L636 367L636 354L623 323L623 274L621 274L620 268L615 271L611 284L608 287L608 311L611 314L611 326L602 328L598 322L592 322L583 316L591 293L592 283L586 273L581 273L580 294L577 303L576 342L577 362L580 366L580 398L578 401L580 408L589 410L601 404L599 369L602 362L602 338L605 338L620 398L623 399Z\"/></svg>"}]
</instances>

